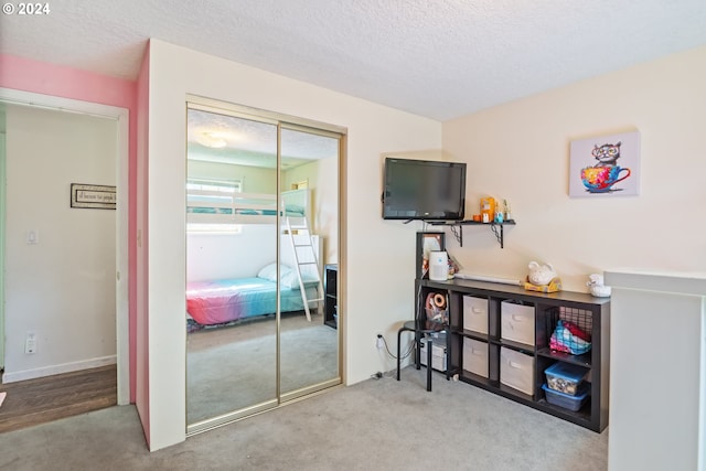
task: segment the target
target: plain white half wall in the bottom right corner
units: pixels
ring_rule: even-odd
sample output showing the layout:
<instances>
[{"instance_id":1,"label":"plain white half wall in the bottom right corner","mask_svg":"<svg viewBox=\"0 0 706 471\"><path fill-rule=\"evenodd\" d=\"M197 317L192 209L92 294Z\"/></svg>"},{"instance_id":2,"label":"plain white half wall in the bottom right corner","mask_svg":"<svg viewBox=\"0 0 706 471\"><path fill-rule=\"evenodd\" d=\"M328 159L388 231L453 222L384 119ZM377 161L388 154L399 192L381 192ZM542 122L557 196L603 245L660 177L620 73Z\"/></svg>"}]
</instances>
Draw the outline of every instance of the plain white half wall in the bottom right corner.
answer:
<instances>
[{"instance_id":1,"label":"plain white half wall in the bottom right corner","mask_svg":"<svg viewBox=\"0 0 706 471\"><path fill-rule=\"evenodd\" d=\"M606 281L608 469L706 471L706 276L609 271Z\"/></svg>"}]
</instances>

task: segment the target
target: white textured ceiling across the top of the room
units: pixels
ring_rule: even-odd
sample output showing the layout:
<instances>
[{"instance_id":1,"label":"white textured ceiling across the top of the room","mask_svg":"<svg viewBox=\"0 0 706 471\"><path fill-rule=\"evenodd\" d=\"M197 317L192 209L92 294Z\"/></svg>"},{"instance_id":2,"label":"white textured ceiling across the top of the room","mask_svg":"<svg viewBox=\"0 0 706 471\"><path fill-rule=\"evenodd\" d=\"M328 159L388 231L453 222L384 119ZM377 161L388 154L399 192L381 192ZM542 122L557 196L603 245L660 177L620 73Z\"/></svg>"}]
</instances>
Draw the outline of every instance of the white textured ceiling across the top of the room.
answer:
<instances>
[{"instance_id":1,"label":"white textured ceiling across the top of the room","mask_svg":"<svg viewBox=\"0 0 706 471\"><path fill-rule=\"evenodd\" d=\"M0 53L133 79L158 38L438 120L706 44L706 0L49 6L0 15Z\"/></svg>"}]
</instances>

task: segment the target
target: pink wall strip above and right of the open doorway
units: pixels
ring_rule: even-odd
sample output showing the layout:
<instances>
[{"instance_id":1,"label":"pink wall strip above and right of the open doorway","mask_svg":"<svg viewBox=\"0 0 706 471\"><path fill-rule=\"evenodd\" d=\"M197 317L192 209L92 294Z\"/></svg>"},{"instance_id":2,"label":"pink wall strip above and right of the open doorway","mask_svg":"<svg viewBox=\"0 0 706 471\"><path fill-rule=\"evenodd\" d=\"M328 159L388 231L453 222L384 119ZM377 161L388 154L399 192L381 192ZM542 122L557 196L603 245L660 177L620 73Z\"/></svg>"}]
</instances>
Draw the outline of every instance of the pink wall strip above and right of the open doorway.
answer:
<instances>
[{"instance_id":1,"label":"pink wall strip above and right of the open doorway","mask_svg":"<svg viewBox=\"0 0 706 471\"><path fill-rule=\"evenodd\" d=\"M137 237L135 235L137 226L137 84L132 81L0 54L0 87L97 103L127 108L129 110L128 297L130 325L130 403L135 403L137 371Z\"/></svg>"}]
</instances>

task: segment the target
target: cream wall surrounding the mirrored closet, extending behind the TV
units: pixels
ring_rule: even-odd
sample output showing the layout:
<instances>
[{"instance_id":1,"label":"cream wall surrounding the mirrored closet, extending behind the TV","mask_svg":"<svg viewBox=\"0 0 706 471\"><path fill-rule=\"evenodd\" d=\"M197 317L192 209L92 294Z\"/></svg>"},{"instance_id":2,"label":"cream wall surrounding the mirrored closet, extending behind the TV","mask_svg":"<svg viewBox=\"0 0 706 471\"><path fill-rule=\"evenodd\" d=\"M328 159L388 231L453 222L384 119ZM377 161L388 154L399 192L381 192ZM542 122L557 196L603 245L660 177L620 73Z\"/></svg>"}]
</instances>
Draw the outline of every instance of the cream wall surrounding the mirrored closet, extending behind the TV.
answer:
<instances>
[{"instance_id":1,"label":"cream wall surrounding the mirrored closet, extending behind the TV","mask_svg":"<svg viewBox=\"0 0 706 471\"><path fill-rule=\"evenodd\" d=\"M150 42L147 208L141 229L149 249L146 319L149 322L149 414L152 450L184 439L185 329L173 315L184 307L183 233L186 94L284 113L349 130L345 181L346 246L341 259L344 374L349 384L381 370L375 334L393 332L413 317L414 228L381 218L382 154L394 150L437 149L441 125L253 67L201 54L162 41ZM142 82L145 84L146 82ZM141 264L140 266L145 266ZM372 308L374 307L374 308Z\"/></svg>"}]
</instances>

